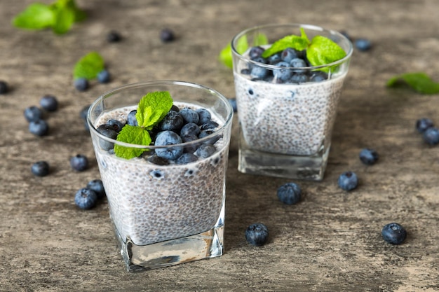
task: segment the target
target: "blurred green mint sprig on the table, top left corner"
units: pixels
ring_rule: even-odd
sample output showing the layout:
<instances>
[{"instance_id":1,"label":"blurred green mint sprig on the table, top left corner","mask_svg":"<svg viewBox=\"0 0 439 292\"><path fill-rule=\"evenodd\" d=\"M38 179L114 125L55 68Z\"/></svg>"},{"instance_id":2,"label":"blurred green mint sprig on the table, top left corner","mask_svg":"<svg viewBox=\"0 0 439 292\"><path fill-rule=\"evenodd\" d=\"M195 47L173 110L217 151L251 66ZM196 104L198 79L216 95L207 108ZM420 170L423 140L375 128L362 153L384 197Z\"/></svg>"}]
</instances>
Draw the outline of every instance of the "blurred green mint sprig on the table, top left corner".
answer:
<instances>
[{"instance_id":1,"label":"blurred green mint sprig on the table, top left corner","mask_svg":"<svg viewBox=\"0 0 439 292\"><path fill-rule=\"evenodd\" d=\"M76 6L74 0L57 0L52 4L35 2L18 13L12 24L20 29L52 28L55 34L69 32L74 22L86 19L86 13Z\"/></svg>"}]
</instances>

